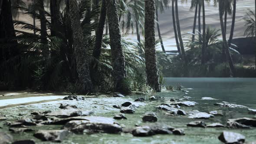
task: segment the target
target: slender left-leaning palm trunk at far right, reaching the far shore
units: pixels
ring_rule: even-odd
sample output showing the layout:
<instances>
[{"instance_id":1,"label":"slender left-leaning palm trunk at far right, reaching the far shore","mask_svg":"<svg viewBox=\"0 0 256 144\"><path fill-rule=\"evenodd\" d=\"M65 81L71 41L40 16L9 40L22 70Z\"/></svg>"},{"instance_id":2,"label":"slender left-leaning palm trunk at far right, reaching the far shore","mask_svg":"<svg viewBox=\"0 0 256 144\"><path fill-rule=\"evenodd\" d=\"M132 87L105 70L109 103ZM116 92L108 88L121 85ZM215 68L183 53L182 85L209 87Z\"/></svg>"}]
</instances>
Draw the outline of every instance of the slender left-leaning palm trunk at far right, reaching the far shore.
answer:
<instances>
[{"instance_id":1,"label":"slender left-leaning palm trunk at far right, reaching the far shore","mask_svg":"<svg viewBox=\"0 0 256 144\"><path fill-rule=\"evenodd\" d=\"M223 23L223 3L221 0L219 0L219 13L220 13L220 26L221 26L221 33L222 33L222 39L223 39L223 43L224 43L224 47L226 49L226 55L229 58L229 65L230 65L230 70L232 72L232 74L235 76L236 75L236 70L233 64L233 60L232 57L230 55L230 50L228 47L228 43L226 41L226 33L225 33L225 28L224 28L224 23Z\"/></svg>"}]
</instances>

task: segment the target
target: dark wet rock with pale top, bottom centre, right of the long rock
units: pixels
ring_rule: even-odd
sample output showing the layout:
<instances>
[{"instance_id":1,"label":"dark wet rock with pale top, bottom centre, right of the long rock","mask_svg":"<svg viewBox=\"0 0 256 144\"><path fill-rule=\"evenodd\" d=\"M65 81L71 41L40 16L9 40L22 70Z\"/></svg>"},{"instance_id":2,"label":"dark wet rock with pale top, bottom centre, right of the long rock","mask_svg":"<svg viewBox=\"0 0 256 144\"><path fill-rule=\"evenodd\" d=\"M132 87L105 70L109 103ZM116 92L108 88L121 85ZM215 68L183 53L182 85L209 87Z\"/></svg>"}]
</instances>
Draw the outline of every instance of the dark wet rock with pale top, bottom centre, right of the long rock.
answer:
<instances>
[{"instance_id":1,"label":"dark wet rock with pale top, bottom centre, right of the long rock","mask_svg":"<svg viewBox=\"0 0 256 144\"><path fill-rule=\"evenodd\" d=\"M149 126L137 127L132 131L132 135L136 137L147 137L154 135L154 132Z\"/></svg>"}]
</instances>

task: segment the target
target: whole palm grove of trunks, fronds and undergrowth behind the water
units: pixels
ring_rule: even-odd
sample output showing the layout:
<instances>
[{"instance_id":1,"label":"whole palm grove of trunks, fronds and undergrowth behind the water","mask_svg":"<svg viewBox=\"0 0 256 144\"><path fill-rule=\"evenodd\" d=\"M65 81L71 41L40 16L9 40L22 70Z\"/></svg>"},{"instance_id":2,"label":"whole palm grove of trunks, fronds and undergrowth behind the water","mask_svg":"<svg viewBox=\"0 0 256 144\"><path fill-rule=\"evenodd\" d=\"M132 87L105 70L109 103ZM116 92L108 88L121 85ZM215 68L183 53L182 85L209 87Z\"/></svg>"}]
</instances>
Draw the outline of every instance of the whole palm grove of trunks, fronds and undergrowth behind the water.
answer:
<instances>
[{"instance_id":1,"label":"whole palm grove of trunks, fronds and undergrowth behind the water","mask_svg":"<svg viewBox=\"0 0 256 144\"><path fill-rule=\"evenodd\" d=\"M161 92L163 77L256 77L256 0L240 19L246 29L239 43L237 1L0 0L0 90L129 94ZM184 33L179 4L188 2L193 29ZM209 26L206 6L218 8L218 28ZM159 23L167 9L172 52ZM248 39L250 58L240 47Z\"/></svg>"}]
</instances>

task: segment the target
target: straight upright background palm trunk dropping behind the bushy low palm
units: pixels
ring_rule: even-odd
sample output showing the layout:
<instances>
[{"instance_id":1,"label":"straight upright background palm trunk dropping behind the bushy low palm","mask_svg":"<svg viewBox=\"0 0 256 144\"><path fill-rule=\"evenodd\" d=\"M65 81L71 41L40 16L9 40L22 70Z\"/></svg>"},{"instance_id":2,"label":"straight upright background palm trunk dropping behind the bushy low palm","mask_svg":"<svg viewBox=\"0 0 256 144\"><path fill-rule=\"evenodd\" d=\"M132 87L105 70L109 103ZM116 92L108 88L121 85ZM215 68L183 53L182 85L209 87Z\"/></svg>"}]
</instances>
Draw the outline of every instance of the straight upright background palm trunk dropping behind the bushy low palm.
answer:
<instances>
[{"instance_id":1,"label":"straight upright background palm trunk dropping behind the bushy low palm","mask_svg":"<svg viewBox=\"0 0 256 144\"><path fill-rule=\"evenodd\" d=\"M206 33L206 29L205 29L205 9L204 9L204 0L202 1L202 8L203 8L203 45L202 45L202 59L201 59L201 64L204 65L205 63L205 49L206 49L206 37L205 37L205 33Z\"/></svg>"}]
</instances>

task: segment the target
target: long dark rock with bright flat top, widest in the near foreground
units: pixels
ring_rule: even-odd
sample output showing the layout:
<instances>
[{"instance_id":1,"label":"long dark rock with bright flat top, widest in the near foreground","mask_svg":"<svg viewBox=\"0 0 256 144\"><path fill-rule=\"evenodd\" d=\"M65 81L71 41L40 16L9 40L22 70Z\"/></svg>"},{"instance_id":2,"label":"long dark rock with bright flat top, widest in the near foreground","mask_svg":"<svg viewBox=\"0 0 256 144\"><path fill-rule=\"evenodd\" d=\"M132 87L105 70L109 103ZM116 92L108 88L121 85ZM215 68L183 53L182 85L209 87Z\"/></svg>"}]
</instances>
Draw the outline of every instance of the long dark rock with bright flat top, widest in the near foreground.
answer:
<instances>
[{"instance_id":1,"label":"long dark rock with bright flat top, widest in the near foreground","mask_svg":"<svg viewBox=\"0 0 256 144\"><path fill-rule=\"evenodd\" d=\"M75 133L110 133L116 134L122 131L119 124L115 123L113 118L88 116L85 120L69 121L64 125L66 130Z\"/></svg>"}]
</instances>

